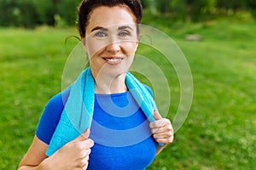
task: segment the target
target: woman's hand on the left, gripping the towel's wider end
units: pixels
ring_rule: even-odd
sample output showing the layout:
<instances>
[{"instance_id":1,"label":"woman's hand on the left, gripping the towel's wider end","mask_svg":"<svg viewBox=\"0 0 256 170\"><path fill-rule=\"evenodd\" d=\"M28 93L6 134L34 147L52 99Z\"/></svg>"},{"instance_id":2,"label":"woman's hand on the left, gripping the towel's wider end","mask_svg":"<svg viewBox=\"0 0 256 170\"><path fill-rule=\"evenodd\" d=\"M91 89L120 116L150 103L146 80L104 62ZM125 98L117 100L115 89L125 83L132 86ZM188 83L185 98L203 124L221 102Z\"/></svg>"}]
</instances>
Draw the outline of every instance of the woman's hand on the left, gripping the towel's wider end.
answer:
<instances>
[{"instance_id":1,"label":"woman's hand on the left, gripping the towel's wider end","mask_svg":"<svg viewBox=\"0 0 256 170\"><path fill-rule=\"evenodd\" d=\"M90 148L94 145L93 140L88 139L90 129L87 128L78 138L65 144L54 155L49 157L50 167L55 169L78 169L84 170L88 167Z\"/></svg>"}]
</instances>

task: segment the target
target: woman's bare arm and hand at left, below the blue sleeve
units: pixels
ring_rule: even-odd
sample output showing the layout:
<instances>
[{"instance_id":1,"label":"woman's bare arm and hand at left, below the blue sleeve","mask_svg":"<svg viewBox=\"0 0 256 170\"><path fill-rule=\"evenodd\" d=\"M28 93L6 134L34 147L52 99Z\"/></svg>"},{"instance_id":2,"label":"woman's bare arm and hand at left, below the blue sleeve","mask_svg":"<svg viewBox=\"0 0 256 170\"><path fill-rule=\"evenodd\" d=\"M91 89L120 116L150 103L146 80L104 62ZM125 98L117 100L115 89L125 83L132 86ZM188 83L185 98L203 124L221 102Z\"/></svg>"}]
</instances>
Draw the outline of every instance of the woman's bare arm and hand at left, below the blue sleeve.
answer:
<instances>
[{"instance_id":1,"label":"woman's bare arm and hand at left, below the blue sleeve","mask_svg":"<svg viewBox=\"0 0 256 170\"><path fill-rule=\"evenodd\" d=\"M94 142L88 139L90 130L87 129L78 138L65 144L52 156L46 156L48 144L34 137L32 145L20 161L18 170L50 170L50 169L86 169L88 167L90 148Z\"/></svg>"}]
</instances>

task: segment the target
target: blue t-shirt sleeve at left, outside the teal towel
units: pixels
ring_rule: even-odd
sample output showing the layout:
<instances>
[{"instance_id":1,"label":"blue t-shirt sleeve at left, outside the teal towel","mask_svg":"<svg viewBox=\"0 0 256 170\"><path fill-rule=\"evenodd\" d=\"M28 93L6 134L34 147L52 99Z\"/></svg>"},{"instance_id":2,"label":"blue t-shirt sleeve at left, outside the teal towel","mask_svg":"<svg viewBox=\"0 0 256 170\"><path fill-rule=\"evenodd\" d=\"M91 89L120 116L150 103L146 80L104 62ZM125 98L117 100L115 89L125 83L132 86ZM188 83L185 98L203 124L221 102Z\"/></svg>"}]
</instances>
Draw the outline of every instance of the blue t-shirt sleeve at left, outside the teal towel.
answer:
<instances>
[{"instance_id":1,"label":"blue t-shirt sleeve at left, outside the teal towel","mask_svg":"<svg viewBox=\"0 0 256 170\"><path fill-rule=\"evenodd\" d=\"M60 121L61 113L67 102L69 93L70 88L65 89L49 99L48 103L44 106L44 111L38 122L36 135L38 139L42 140L45 144L49 144L49 141L55 132L55 128Z\"/></svg>"}]
</instances>

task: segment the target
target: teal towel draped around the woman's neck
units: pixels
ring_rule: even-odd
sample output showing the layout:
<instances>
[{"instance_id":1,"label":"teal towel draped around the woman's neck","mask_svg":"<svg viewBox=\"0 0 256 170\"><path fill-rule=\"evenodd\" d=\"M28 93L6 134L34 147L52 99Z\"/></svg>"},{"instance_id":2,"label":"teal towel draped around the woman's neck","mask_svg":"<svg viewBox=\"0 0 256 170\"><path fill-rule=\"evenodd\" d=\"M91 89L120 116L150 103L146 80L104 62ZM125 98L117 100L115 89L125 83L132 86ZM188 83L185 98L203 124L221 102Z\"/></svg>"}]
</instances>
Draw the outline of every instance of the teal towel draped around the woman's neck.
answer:
<instances>
[{"instance_id":1,"label":"teal towel draped around the woman's neck","mask_svg":"<svg viewBox=\"0 0 256 170\"><path fill-rule=\"evenodd\" d=\"M128 71L126 72L125 84L145 116L148 117L149 122L154 122L153 112L157 108L148 90ZM84 133L86 128L90 128L95 100L94 86L95 82L90 67L84 70L78 79L73 82L67 103L61 113L60 122L49 142L46 151L47 156L51 156L64 144Z\"/></svg>"}]
</instances>

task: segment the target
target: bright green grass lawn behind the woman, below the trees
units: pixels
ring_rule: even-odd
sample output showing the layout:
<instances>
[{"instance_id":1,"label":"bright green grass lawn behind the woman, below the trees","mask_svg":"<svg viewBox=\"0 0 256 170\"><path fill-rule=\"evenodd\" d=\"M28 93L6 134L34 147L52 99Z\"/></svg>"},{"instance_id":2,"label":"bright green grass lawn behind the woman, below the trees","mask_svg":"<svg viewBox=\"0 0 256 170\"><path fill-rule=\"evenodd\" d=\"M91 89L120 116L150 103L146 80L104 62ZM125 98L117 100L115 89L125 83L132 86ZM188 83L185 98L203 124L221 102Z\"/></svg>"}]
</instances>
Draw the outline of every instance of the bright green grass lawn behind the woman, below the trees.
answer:
<instances>
[{"instance_id":1,"label":"bright green grass lawn behind the woman, below the trees","mask_svg":"<svg viewBox=\"0 0 256 170\"><path fill-rule=\"evenodd\" d=\"M175 141L157 156L153 169L253 169L256 167L256 30L241 14L198 24L146 18L183 50L194 81L189 116ZM201 42L184 40L200 34ZM77 40L65 45L75 29L0 29L0 169L15 169L32 142L48 99L61 90L67 56ZM157 61L157 58L156 58ZM161 61L157 61L160 62ZM178 80L168 65L177 111Z\"/></svg>"}]
</instances>

